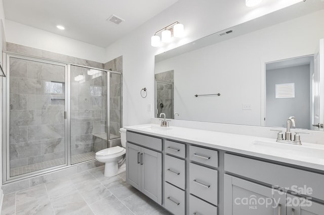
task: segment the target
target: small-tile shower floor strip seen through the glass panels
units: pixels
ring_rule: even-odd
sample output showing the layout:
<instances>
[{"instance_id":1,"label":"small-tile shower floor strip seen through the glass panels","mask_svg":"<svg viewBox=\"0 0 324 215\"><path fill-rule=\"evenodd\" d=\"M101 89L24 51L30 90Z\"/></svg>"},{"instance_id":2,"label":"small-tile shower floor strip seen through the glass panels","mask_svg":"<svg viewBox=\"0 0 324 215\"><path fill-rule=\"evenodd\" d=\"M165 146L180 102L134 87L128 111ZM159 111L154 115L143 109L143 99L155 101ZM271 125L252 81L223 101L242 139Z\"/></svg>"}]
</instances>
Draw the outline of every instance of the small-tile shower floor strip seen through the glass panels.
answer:
<instances>
[{"instance_id":1,"label":"small-tile shower floor strip seen through the glass panels","mask_svg":"<svg viewBox=\"0 0 324 215\"><path fill-rule=\"evenodd\" d=\"M93 151L83 153L83 154L76 154L72 156L72 164L77 164L77 163L85 162L87 160L92 160L95 159L95 157L96 157L96 153ZM63 164L65 164L64 157L59 159L48 160L47 162L10 169L10 176L11 177L18 176L18 175L38 171L38 170L44 170L47 168L56 167Z\"/></svg>"}]
</instances>

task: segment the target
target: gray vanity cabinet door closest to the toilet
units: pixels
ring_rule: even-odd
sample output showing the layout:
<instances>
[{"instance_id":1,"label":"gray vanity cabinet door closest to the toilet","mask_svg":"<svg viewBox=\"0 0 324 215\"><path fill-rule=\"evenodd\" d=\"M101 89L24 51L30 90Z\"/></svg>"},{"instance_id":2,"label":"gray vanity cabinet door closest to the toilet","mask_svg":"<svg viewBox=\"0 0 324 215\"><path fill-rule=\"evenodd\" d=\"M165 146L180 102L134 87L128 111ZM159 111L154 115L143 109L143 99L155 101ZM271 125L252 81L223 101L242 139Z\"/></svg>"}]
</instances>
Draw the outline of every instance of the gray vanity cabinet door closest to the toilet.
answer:
<instances>
[{"instance_id":1,"label":"gray vanity cabinet door closest to the toilet","mask_svg":"<svg viewBox=\"0 0 324 215\"><path fill-rule=\"evenodd\" d=\"M141 190L141 147L127 142L126 144L126 180L138 190Z\"/></svg>"}]
</instances>

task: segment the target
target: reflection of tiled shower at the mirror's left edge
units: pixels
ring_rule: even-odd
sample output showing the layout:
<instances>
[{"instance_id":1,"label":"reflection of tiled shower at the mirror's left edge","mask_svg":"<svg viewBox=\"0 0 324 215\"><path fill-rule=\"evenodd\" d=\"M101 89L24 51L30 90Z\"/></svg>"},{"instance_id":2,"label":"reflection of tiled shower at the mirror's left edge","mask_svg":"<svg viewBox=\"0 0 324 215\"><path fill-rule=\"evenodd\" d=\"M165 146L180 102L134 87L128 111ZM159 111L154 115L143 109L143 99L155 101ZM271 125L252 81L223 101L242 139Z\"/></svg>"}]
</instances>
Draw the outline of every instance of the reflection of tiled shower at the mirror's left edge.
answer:
<instances>
[{"instance_id":1,"label":"reflection of tiled shower at the mirror's left edge","mask_svg":"<svg viewBox=\"0 0 324 215\"><path fill-rule=\"evenodd\" d=\"M157 73L155 80L170 83L156 83L156 102L158 113L165 113L168 119L173 119L173 89L171 83L174 83L174 71Z\"/></svg>"}]
</instances>

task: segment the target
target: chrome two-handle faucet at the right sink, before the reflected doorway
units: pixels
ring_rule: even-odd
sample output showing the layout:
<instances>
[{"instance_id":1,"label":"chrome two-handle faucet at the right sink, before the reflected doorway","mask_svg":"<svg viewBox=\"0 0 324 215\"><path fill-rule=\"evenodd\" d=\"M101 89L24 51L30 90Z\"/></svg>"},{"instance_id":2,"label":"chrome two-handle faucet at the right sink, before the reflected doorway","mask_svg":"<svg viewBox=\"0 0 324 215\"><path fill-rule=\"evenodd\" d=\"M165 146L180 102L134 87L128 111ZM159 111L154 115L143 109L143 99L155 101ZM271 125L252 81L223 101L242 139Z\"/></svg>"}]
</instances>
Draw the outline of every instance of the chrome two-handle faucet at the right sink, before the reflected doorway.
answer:
<instances>
[{"instance_id":1,"label":"chrome two-handle faucet at the right sink, before the reflected doorway","mask_svg":"<svg viewBox=\"0 0 324 215\"><path fill-rule=\"evenodd\" d=\"M291 128L296 127L296 119L295 117L290 117L287 120L287 130L285 132L285 139L283 138L283 134L282 134L282 130L272 130L272 131L278 131L277 134L277 142L280 143L290 143L290 144L296 144L296 145L301 145L301 141L300 141L300 135L299 133L303 133L303 134L308 134L305 132L295 132L294 135L294 140L292 140L292 132L290 131Z\"/></svg>"}]
</instances>

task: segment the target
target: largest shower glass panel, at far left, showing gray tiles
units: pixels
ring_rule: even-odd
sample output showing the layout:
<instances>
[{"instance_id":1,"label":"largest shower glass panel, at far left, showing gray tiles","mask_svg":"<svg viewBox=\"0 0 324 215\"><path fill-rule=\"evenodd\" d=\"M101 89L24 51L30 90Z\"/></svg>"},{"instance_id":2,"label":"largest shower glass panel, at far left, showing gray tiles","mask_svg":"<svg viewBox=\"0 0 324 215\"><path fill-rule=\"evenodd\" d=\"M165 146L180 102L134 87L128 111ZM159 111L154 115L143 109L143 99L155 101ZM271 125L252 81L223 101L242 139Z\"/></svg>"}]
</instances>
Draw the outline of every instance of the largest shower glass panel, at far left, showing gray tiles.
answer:
<instances>
[{"instance_id":1,"label":"largest shower glass panel, at far left, showing gray tiles","mask_svg":"<svg viewBox=\"0 0 324 215\"><path fill-rule=\"evenodd\" d=\"M67 165L66 65L11 56L6 64L7 176Z\"/></svg>"}]
</instances>

